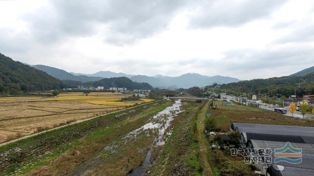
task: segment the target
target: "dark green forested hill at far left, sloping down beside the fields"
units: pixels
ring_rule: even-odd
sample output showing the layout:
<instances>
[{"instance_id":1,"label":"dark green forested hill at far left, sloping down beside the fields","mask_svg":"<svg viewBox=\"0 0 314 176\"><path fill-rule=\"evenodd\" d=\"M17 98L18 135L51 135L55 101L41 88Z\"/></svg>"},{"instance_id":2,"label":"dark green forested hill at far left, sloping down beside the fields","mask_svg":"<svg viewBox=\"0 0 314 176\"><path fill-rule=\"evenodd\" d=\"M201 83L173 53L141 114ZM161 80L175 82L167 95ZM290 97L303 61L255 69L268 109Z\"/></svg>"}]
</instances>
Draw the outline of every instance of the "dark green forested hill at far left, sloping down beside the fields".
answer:
<instances>
[{"instance_id":1,"label":"dark green forested hill at far left, sloping down beside the fields","mask_svg":"<svg viewBox=\"0 0 314 176\"><path fill-rule=\"evenodd\" d=\"M31 66L13 61L0 53L0 94L64 88L65 84Z\"/></svg>"}]
</instances>

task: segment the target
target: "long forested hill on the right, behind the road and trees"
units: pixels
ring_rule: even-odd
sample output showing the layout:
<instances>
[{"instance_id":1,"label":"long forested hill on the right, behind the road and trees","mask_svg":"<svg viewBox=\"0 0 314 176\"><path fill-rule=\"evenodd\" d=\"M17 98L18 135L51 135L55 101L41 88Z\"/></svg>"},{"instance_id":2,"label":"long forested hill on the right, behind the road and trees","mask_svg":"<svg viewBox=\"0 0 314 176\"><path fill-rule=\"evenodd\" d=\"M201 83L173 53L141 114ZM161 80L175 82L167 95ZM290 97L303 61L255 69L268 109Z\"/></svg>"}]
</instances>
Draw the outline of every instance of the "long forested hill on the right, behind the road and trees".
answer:
<instances>
[{"instance_id":1,"label":"long forested hill on the right, behind the road and trees","mask_svg":"<svg viewBox=\"0 0 314 176\"><path fill-rule=\"evenodd\" d=\"M240 81L237 83L223 84L222 89L230 89L241 92L281 94L285 96L314 94L314 73L304 76L283 76L268 79L254 79L250 81Z\"/></svg>"}]
</instances>

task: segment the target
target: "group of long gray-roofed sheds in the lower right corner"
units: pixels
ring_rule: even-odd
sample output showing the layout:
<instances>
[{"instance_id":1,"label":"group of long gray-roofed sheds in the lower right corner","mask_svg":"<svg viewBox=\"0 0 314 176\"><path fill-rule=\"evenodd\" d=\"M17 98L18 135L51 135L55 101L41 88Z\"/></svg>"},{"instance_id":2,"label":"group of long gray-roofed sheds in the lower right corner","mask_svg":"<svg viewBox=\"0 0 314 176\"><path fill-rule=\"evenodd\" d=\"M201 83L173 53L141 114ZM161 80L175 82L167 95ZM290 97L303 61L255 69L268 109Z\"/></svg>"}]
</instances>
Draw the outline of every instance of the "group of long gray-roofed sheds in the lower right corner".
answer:
<instances>
[{"instance_id":1,"label":"group of long gray-roofed sheds in the lower right corner","mask_svg":"<svg viewBox=\"0 0 314 176\"><path fill-rule=\"evenodd\" d=\"M263 176L313 176L314 127L233 123L231 128L240 133L240 140L244 146L256 151L271 149L270 155L266 155L270 156L270 162L255 162ZM291 149L299 152L292 152ZM291 156L291 153L295 155ZM280 158L283 159L276 161ZM287 158L302 162L289 163L286 162Z\"/></svg>"}]
</instances>

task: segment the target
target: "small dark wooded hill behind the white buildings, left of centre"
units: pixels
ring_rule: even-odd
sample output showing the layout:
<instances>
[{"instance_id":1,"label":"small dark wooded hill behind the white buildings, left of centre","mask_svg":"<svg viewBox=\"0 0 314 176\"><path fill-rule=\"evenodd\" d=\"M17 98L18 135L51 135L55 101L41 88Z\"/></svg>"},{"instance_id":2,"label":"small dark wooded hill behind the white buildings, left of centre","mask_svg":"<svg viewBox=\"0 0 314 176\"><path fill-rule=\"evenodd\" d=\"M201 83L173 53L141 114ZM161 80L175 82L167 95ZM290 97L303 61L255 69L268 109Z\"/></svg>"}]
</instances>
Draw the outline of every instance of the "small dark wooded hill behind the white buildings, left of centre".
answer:
<instances>
[{"instance_id":1,"label":"small dark wooded hill behind the white buildings, left of centre","mask_svg":"<svg viewBox=\"0 0 314 176\"><path fill-rule=\"evenodd\" d=\"M105 88L116 87L128 89L153 89L153 87L148 83L133 82L131 79L127 77L104 78L102 80L89 82L87 84L94 87L104 86Z\"/></svg>"}]
</instances>

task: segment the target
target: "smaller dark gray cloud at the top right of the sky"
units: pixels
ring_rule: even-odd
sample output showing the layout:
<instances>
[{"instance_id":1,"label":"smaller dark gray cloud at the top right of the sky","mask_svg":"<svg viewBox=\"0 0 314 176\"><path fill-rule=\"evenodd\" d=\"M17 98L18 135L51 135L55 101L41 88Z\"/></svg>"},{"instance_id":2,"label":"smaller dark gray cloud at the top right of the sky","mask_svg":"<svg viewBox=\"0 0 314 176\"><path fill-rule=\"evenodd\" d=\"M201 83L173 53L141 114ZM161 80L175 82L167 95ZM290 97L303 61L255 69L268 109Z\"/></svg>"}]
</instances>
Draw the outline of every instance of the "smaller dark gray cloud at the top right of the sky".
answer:
<instances>
[{"instance_id":1,"label":"smaller dark gray cloud at the top right of the sky","mask_svg":"<svg viewBox=\"0 0 314 176\"><path fill-rule=\"evenodd\" d=\"M191 28L236 27L267 17L287 0L211 0L192 16Z\"/></svg>"}]
</instances>

